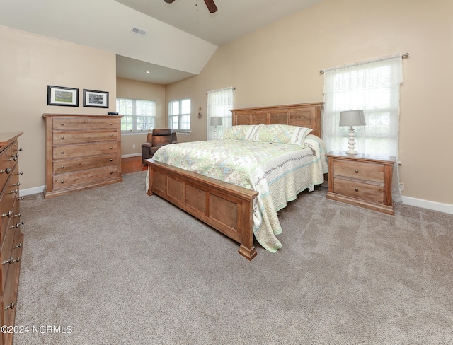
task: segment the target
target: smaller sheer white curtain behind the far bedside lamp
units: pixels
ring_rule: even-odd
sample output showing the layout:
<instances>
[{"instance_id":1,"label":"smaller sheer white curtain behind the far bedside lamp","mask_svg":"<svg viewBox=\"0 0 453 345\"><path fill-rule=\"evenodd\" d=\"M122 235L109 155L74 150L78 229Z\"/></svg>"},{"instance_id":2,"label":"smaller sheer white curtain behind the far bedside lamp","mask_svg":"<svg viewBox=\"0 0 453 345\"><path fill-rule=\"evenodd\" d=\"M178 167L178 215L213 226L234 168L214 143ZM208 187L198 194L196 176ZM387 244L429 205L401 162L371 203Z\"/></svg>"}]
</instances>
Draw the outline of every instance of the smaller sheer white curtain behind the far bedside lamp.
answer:
<instances>
[{"instance_id":1,"label":"smaller sheer white curtain behind the far bedside lamp","mask_svg":"<svg viewBox=\"0 0 453 345\"><path fill-rule=\"evenodd\" d=\"M207 92L207 140L214 139L214 127L211 126L211 117L222 117L222 126L217 126L217 138L220 138L224 130L231 127L234 88L222 88Z\"/></svg>"}]
</instances>

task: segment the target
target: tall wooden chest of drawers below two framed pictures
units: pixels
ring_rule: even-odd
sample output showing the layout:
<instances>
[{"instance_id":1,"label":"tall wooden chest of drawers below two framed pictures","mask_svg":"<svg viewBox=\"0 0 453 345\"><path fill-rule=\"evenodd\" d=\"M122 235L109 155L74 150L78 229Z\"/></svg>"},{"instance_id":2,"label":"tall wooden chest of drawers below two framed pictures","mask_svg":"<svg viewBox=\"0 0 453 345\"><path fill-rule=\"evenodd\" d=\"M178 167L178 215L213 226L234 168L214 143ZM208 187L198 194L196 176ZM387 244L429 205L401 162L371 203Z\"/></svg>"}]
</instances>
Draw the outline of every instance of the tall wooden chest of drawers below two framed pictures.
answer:
<instances>
[{"instance_id":1,"label":"tall wooden chest of drawers below two framed pictures","mask_svg":"<svg viewBox=\"0 0 453 345\"><path fill-rule=\"evenodd\" d=\"M122 181L121 116L42 117L46 134L46 199Z\"/></svg>"}]
</instances>

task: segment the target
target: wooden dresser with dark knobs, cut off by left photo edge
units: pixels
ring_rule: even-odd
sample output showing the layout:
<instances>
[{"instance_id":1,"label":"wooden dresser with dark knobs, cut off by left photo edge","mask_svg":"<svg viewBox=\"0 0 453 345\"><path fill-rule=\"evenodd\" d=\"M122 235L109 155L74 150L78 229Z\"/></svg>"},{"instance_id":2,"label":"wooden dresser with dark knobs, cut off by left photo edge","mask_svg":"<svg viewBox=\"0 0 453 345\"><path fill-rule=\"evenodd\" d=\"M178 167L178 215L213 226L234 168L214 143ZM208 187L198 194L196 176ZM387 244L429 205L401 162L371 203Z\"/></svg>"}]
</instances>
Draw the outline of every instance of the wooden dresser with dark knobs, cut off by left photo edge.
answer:
<instances>
[{"instance_id":1,"label":"wooden dresser with dark knobs, cut off by left photo edge","mask_svg":"<svg viewBox=\"0 0 453 345\"><path fill-rule=\"evenodd\" d=\"M13 330L21 271L23 234L19 199L18 137L22 133L0 133L0 293L1 326ZM12 344L13 332L0 333L0 344Z\"/></svg>"}]
</instances>

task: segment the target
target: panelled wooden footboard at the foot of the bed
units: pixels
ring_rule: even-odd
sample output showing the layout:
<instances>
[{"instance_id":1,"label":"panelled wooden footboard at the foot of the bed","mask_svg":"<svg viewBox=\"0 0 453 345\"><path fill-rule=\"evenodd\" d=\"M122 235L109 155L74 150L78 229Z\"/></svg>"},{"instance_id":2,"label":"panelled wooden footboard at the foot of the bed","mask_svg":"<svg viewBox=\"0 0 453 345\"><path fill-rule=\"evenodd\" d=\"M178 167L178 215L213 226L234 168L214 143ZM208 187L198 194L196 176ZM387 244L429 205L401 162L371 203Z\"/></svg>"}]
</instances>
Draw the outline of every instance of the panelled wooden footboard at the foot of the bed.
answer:
<instances>
[{"instance_id":1,"label":"panelled wooden footboard at the foot of the bed","mask_svg":"<svg viewBox=\"0 0 453 345\"><path fill-rule=\"evenodd\" d=\"M152 159L146 162L149 179L147 194L159 195L239 242L238 252L243 257L249 260L256 257L253 199L258 192Z\"/></svg>"}]
</instances>

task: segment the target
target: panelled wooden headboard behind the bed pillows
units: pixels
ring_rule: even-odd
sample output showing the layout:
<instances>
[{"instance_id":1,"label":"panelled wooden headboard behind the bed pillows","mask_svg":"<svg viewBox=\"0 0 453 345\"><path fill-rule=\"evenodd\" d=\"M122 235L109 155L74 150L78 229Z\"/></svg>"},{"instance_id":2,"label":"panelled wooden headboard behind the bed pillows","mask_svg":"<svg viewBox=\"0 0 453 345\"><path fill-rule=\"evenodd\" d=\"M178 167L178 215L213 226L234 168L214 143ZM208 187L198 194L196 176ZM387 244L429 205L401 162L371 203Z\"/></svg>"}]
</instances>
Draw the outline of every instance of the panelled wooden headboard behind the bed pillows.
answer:
<instances>
[{"instance_id":1,"label":"panelled wooden headboard behind the bed pillows","mask_svg":"<svg viewBox=\"0 0 453 345\"><path fill-rule=\"evenodd\" d=\"M233 126L239 124L291 124L311 128L311 134L321 138L321 103L275 105L272 107L253 107L231 109Z\"/></svg>"}]
</instances>

